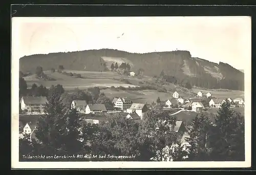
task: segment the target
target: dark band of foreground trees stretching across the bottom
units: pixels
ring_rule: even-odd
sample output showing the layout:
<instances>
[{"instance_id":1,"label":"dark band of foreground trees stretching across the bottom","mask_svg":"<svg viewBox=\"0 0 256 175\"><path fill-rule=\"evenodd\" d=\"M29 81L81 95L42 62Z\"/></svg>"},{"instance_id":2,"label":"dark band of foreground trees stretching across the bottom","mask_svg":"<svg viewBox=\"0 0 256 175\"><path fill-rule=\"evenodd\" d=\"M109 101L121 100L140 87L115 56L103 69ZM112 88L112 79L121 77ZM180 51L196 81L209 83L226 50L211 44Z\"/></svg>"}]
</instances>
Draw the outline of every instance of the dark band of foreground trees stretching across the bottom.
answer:
<instances>
[{"instance_id":1,"label":"dark band of foreground trees stretching across the bottom","mask_svg":"<svg viewBox=\"0 0 256 175\"><path fill-rule=\"evenodd\" d=\"M204 113L193 119L187 140L191 146L184 149L178 139L182 134L172 129L176 117L170 115L170 111L153 108L140 121L114 114L106 116L99 124L91 124L83 120L76 109L66 105L63 101L65 91L61 87L52 86L49 90L45 115L39 118L35 130L38 140L30 142L29 136L19 139L20 161L22 155L27 154L136 155L134 159L77 158L73 161L244 160L244 118L232 111L229 103L222 104L214 123ZM96 101L105 101L104 94L97 88L92 91Z\"/></svg>"}]
</instances>

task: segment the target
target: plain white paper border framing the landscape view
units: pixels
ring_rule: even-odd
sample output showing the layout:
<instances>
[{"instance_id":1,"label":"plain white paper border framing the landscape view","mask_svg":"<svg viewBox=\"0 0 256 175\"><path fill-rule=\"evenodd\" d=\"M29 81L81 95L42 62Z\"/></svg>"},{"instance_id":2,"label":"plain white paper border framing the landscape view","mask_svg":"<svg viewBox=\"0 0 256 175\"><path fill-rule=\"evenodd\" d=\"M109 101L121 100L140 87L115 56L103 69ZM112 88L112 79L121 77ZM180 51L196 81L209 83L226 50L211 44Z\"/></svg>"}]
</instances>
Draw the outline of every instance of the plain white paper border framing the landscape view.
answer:
<instances>
[{"instance_id":1,"label":"plain white paper border framing the landscape view","mask_svg":"<svg viewBox=\"0 0 256 175\"><path fill-rule=\"evenodd\" d=\"M197 16L199 17L199 16ZM201 16L202 17L202 16ZM230 17L230 16L229 16ZM236 17L236 16L233 16ZM239 16L242 17L242 16ZM249 16L243 16L250 19ZM19 60L13 59L13 52L18 48L18 28L20 22L33 22L54 20L56 23L62 19L81 20L84 17L14 17L12 18L12 59L11 59L11 168L245 168L251 166L251 32L248 33L248 56L244 58L248 67L245 74L245 161L244 162L19 162L18 161L18 77ZM87 17L99 19L102 17ZM120 17L118 17L120 18ZM131 17L122 17L131 18ZM134 18L134 17L132 17ZM143 17L152 18L152 17ZM168 18L168 17L153 17ZM180 17L182 18L182 17ZM250 29L251 30L251 27Z\"/></svg>"}]
</instances>

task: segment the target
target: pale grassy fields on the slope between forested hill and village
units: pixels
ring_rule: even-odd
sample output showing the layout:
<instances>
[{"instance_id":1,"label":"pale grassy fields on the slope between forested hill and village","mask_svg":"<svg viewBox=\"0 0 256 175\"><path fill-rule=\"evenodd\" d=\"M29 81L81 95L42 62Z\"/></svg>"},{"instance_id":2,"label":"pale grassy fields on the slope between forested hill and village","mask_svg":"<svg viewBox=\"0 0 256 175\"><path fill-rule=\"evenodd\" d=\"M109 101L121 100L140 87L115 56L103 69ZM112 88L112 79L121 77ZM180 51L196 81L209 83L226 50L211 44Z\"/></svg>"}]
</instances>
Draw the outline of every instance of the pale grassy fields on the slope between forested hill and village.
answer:
<instances>
[{"instance_id":1,"label":"pale grassy fields on the slope between forested hill and village","mask_svg":"<svg viewBox=\"0 0 256 175\"><path fill-rule=\"evenodd\" d=\"M35 75L31 75L28 77L24 77L27 81L28 88L31 88L33 83L37 85L44 85L47 88L50 88L51 85L61 84L66 91L72 91L75 88L79 88L80 90L88 89L92 86L99 86L101 92L104 92L106 96L109 98L113 98L115 96L124 96L128 97L134 102L137 103L152 103L156 101L159 97L161 101L166 101L167 99L172 98L172 94L177 91L180 96L184 98L190 98L191 96L195 96L199 91L202 91L204 94L210 92L213 97L218 99L225 99L225 98L242 98L244 97L243 91L220 91L220 90L202 90L202 89L191 89L187 90L180 86L177 86L172 83L167 82L156 82L156 78L144 76L143 78L137 77L128 77L124 75L119 75L116 72L89 72L89 71L74 71L74 70L64 70L65 72L72 72L81 74L83 78L74 78L68 75L63 75L58 72L52 73L51 71L44 71L45 74L49 77L56 79L55 81L45 81L39 80L35 77ZM127 84L124 82L119 81L118 79L125 78L129 80L132 84ZM147 83L145 83L147 82ZM157 92L156 90L145 90L145 91L112 91L110 89L111 86L141 86L150 84L155 87L164 87L167 90L167 93Z\"/></svg>"}]
</instances>

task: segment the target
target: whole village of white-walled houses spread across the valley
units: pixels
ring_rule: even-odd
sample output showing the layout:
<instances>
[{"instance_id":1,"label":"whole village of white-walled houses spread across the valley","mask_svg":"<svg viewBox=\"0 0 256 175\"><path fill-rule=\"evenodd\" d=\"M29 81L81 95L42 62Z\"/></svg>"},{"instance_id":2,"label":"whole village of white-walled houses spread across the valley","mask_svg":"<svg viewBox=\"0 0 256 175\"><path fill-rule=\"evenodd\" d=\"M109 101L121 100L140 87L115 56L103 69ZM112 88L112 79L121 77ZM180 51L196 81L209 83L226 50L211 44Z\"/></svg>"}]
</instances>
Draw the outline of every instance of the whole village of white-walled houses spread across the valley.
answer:
<instances>
[{"instance_id":1,"label":"whole village of white-walled houses spread across the valley","mask_svg":"<svg viewBox=\"0 0 256 175\"><path fill-rule=\"evenodd\" d=\"M20 121L19 137L23 138L25 134L30 135L31 139L35 138L34 130L36 130L36 120L32 118L34 116L44 115L44 104L47 102L46 97L34 97L23 96L20 100L20 110L23 112L20 117L31 116L31 121ZM244 107L245 102L243 98L232 99L227 97L226 99L216 99L211 93L204 95L199 91L195 97L185 99L179 96L179 93L175 91L173 96L160 104L159 110L173 110L172 115L176 115L180 112L193 112L200 113L206 111L208 108L219 108L222 103L229 102L231 107ZM107 110L104 104L87 104L86 100L73 100L70 104L70 108L76 108L77 113L84 116L84 120L89 123L99 124L104 120L104 115L112 115L114 113L122 114L126 118L133 120L143 120L143 116L146 112L156 105L147 103L133 103L133 101L127 97L115 97L112 100L114 110ZM102 117L103 116L103 117ZM185 126L183 121L176 121L176 132L181 132L181 142L185 145L188 143L185 138L188 138L189 126Z\"/></svg>"}]
</instances>

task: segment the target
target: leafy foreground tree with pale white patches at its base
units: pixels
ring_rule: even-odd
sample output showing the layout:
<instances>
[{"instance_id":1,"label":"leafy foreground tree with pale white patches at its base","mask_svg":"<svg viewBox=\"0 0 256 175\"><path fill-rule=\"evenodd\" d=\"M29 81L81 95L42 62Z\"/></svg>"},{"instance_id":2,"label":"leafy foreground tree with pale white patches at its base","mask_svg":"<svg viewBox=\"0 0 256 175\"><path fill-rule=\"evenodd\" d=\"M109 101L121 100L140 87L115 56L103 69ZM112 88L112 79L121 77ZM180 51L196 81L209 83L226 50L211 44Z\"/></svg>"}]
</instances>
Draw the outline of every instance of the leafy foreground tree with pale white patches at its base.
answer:
<instances>
[{"instance_id":1,"label":"leafy foreground tree with pale white patches at its base","mask_svg":"<svg viewBox=\"0 0 256 175\"><path fill-rule=\"evenodd\" d=\"M179 133L175 132L176 118L169 111L151 110L146 113L139 127L138 142L141 161L172 161L184 156L179 145ZM175 148L176 147L176 148ZM181 152L173 149L182 150ZM182 156L181 156L182 155Z\"/></svg>"}]
</instances>

